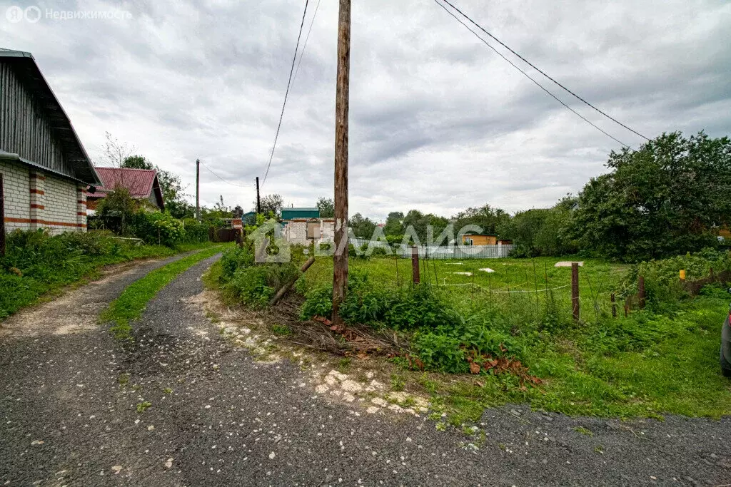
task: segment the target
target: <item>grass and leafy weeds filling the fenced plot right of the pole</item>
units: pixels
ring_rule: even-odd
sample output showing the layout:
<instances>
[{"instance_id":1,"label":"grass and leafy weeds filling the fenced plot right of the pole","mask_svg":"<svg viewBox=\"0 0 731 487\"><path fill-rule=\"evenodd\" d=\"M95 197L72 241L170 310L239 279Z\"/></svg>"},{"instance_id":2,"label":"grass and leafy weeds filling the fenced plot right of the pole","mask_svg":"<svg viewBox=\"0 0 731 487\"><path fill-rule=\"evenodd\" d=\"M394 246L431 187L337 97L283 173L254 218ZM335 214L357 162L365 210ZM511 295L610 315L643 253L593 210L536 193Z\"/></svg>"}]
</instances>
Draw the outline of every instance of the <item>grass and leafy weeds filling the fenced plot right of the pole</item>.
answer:
<instances>
[{"instance_id":1,"label":"grass and leafy weeds filling the fenced plot right of the pole","mask_svg":"<svg viewBox=\"0 0 731 487\"><path fill-rule=\"evenodd\" d=\"M399 285L393 259L371 258L352 262L341 315L347 323L404 332L411 349L393 358L403 367L479 376L479 386L431 384L436 407L461 411L455 421L526 401L569 414L717 418L731 413L731 389L718 363L729 298L720 285L692 298L678 270L694 280L711 267L726 269L729 258L707 250L637 266L587 260L580 269L579 323L570 314L570 269L553 267L556 259L537 259L536 275L525 260L431 261L425 282L412 286L404 282L409 262L401 261L406 279L401 274ZM298 286L306 296L302 318L331 311L331 264L316 266ZM480 272L487 266L495 272ZM645 275L648 307L625 318L621 291L636 292L637 272ZM609 300L615 291L617 318Z\"/></svg>"}]
</instances>

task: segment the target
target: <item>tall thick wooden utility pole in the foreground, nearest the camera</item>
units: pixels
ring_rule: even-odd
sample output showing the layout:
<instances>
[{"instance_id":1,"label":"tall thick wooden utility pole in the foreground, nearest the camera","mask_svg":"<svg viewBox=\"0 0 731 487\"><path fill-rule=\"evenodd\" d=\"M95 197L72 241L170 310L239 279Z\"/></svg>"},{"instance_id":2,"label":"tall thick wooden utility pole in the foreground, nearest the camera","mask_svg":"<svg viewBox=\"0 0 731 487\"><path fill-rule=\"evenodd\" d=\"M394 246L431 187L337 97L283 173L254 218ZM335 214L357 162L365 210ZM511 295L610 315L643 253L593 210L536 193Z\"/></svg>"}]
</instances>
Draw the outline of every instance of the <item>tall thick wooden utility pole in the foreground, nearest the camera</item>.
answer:
<instances>
[{"instance_id":1,"label":"tall thick wooden utility pole in the foreground, nearest the camera","mask_svg":"<svg viewBox=\"0 0 731 487\"><path fill-rule=\"evenodd\" d=\"M348 286L348 110L350 85L350 0L340 0L338 75L335 95L335 253L333 254L333 323Z\"/></svg>"}]
</instances>

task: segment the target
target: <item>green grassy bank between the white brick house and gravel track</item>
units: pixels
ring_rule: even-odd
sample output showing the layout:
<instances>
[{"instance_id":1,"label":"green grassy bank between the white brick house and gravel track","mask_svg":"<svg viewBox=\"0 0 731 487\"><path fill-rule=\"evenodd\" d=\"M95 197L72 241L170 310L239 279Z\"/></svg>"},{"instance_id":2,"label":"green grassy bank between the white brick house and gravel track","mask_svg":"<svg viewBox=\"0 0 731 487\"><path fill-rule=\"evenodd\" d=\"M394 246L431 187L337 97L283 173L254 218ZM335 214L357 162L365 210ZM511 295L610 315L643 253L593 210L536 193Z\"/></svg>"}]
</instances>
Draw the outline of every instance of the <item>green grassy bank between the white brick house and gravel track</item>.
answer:
<instances>
[{"instance_id":1,"label":"green grassy bank between the white brick house and gravel track","mask_svg":"<svg viewBox=\"0 0 731 487\"><path fill-rule=\"evenodd\" d=\"M121 242L115 245L112 253L104 255L91 256L67 248L64 253L50 260L23 256L23 264L20 264L16 262L15 249L10 247L9 242L8 256L0 259L0 264L3 264L0 265L0 321L23 307L53 299L67 285L98 278L103 266L144 258L164 258L211 245L207 242L169 248L163 245L133 246Z\"/></svg>"}]
</instances>

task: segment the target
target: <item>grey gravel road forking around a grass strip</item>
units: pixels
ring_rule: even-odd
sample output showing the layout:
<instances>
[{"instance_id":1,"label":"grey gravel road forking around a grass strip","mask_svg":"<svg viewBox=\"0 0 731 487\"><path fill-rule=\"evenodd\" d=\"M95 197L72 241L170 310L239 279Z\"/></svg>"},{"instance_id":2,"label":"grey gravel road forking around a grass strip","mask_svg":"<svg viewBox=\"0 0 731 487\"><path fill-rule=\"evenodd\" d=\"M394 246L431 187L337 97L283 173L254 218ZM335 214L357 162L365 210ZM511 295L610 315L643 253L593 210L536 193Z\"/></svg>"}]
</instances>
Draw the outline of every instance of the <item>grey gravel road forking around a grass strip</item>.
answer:
<instances>
[{"instance_id":1,"label":"grey gravel road forking around a grass strip","mask_svg":"<svg viewBox=\"0 0 731 487\"><path fill-rule=\"evenodd\" d=\"M122 347L96 315L164 263L118 272L0 329L0 483L10 486L591 486L731 484L731 421L485 411L475 450L412 415L317 394L289 361L254 361L189 298L183 273ZM168 259L169 261L170 259ZM583 427L593 435L581 434Z\"/></svg>"}]
</instances>

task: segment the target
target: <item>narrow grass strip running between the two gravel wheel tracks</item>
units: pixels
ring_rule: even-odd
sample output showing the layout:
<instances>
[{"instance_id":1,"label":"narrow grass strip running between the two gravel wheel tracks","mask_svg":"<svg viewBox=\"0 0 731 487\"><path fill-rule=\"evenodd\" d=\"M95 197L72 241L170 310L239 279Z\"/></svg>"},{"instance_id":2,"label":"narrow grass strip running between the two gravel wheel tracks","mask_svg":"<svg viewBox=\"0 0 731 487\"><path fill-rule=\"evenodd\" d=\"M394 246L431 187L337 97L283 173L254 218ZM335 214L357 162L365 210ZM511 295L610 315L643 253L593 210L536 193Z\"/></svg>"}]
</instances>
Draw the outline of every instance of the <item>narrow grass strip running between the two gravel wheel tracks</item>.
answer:
<instances>
[{"instance_id":1,"label":"narrow grass strip running between the two gravel wheel tracks","mask_svg":"<svg viewBox=\"0 0 731 487\"><path fill-rule=\"evenodd\" d=\"M206 248L148 273L142 279L127 286L121 296L111 302L105 312L102 312L100 320L113 322L110 331L116 339L130 340L132 326L129 325L129 322L140 318L150 299L190 266L220 251L220 245Z\"/></svg>"}]
</instances>

